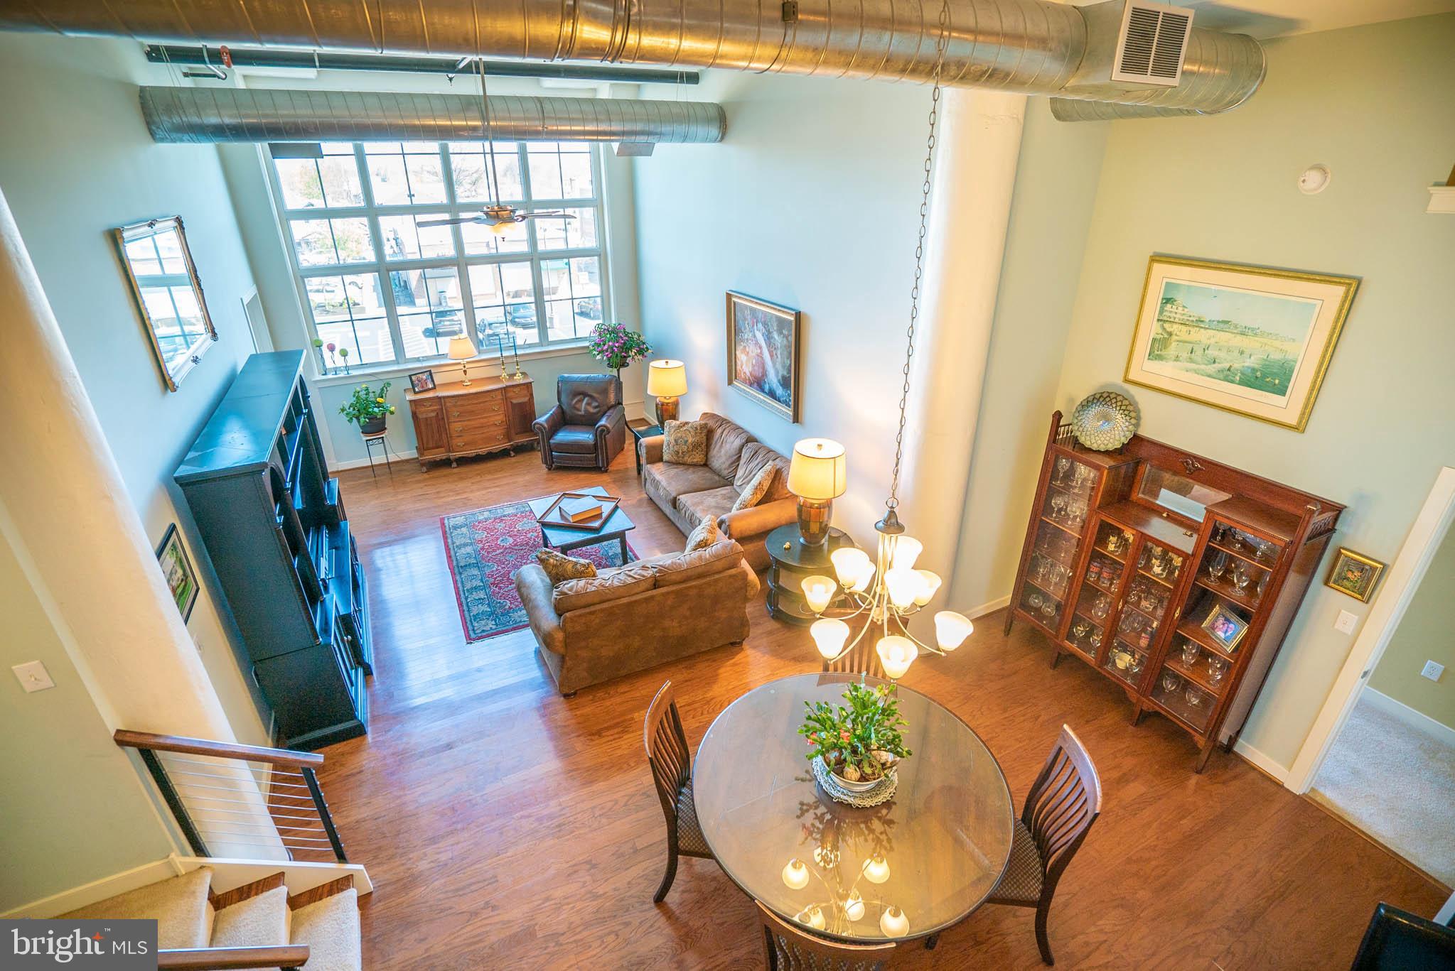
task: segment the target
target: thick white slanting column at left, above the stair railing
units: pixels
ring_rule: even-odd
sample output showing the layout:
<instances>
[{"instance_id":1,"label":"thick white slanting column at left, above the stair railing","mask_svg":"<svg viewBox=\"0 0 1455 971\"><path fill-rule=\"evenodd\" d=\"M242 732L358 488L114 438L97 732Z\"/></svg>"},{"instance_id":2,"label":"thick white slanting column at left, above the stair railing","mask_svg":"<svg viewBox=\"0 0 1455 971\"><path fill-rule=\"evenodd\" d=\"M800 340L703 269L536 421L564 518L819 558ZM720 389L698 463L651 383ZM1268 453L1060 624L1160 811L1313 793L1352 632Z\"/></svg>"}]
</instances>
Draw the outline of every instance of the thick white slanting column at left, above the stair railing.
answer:
<instances>
[{"instance_id":1,"label":"thick white slanting column at left, above the stair railing","mask_svg":"<svg viewBox=\"0 0 1455 971\"><path fill-rule=\"evenodd\" d=\"M97 709L112 728L233 741L3 193L0 334L0 503Z\"/></svg>"}]
</instances>

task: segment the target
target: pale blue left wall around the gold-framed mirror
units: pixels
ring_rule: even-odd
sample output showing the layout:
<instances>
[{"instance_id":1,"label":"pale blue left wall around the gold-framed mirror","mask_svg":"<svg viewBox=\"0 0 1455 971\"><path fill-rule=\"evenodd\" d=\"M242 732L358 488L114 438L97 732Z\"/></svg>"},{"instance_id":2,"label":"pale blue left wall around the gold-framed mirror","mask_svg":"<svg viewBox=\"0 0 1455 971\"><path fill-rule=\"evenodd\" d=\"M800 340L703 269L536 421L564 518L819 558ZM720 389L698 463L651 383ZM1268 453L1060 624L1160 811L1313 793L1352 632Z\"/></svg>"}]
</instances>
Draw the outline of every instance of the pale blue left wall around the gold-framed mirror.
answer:
<instances>
[{"instance_id":1,"label":"pale blue left wall around the gold-framed mirror","mask_svg":"<svg viewBox=\"0 0 1455 971\"><path fill-rule=\"evenodd\" d=\"M236 628L218 609L215 576L172 483L253 350L240 302L253 283L217 151L157 145L147 134L137 84L169 80L134 42L0 33L0 92L7 92L0 97L0 188L147 535L160 542L176 522L202 574L188 628L228 721L239 738L265 743L263 704L243 673ZM162 384L109 235L164 215L180 215L186 225L221 339L175 394Z\"/></svg>"}]
</instances>

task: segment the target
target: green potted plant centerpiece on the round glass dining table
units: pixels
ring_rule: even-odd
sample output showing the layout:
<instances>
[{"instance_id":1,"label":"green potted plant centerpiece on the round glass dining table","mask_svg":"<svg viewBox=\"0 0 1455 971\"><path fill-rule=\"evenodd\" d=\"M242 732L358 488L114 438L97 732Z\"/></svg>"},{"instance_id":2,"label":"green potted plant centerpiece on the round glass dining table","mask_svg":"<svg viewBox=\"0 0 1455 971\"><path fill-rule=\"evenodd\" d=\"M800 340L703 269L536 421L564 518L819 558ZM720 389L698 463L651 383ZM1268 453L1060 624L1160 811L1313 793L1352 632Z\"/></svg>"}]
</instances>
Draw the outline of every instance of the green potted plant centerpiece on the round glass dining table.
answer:
<instances>
[{"instance_id":1,"label":"green potted plant centerpiece on the round glass dining table","mask_svg":"<svg viewBox=\"0 0 1455 971\"><path fill-rule=\"evenodd\" d=\"M914 753L899 734L905 721L893 686L850 683L844 701L847 708L803 702L808 717L799 734L808 738L808 757L821 759L837 783L850 792L867 792Z\"/></svg>"}]
</instances>

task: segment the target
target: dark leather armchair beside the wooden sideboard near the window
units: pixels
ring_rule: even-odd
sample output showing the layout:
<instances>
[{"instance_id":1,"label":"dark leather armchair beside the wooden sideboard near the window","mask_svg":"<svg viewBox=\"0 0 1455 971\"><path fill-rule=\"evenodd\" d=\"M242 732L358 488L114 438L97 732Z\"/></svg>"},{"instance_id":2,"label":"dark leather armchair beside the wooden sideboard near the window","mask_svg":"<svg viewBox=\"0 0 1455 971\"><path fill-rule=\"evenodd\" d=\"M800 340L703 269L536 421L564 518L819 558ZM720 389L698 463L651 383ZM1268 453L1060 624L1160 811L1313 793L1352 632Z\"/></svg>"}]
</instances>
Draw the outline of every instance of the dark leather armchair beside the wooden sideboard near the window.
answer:
<instances>
[{"instance_id":1,"label":"dark leather armchair beside the wooden sideboard near the window","mask_svg":"<svg viewBox=\"0 0 1455 971\"><path fill-rule=\"evenodd\" d=\"M556 407L531 427L546 468L607 471L627 443L621 379L611 374L563 374L556 379Z\"/></svg>"}]
</instances>

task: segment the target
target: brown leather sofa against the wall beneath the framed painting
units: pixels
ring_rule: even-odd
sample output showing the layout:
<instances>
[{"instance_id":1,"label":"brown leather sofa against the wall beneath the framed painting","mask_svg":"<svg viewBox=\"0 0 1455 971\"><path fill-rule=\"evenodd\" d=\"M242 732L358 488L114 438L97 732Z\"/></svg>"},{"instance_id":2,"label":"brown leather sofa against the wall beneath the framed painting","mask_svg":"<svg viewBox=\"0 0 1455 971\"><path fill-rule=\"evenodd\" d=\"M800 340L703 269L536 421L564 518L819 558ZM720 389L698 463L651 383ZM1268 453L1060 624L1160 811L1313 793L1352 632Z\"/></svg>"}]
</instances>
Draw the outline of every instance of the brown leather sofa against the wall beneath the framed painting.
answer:
<instances>
[{"instance_id":1,"label":"brown leather sofa against the wall beneath the framed painting","mask_svg":"<svg viewBox=\"0 0 1455 971\"><path fill-rule=\"evenodd\" d=\"M662 436L642 439L642 488L687 535L707 517L736 539L754 570L768 568L768 533L797 520L797 500L789 493L789 459L720 414L704 413L707 465L662 461ZM773 487L757 506L729 512L758 470L778 467Z\"/></svg>"}]
</instances>

